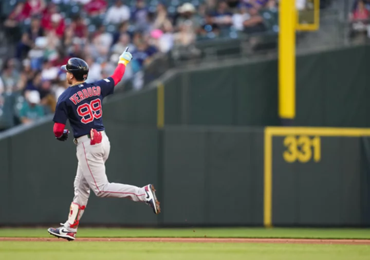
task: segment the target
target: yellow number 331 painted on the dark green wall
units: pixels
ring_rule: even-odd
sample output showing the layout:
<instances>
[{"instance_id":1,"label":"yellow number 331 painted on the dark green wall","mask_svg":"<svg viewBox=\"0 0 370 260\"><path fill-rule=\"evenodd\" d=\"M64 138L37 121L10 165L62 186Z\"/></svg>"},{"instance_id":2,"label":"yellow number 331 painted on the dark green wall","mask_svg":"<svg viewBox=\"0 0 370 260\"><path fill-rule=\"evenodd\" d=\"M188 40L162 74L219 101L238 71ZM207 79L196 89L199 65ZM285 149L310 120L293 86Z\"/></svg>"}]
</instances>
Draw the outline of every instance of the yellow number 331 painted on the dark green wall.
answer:
<instances>
[{"instance_id":1,"label":"yellow number 331 painted on the dark green wall","mask_svg":"<svg viewBox=\"0 0 370 260\"><path fill-rule=\"evenodd\" d=\"M288 163L295 161L307 163L312 159L312 153L313 161L319 162L321 159L321 141L318 136L311 139L307 135L299 137L289 135L284 138L284 146L287 150L284 151L283 157Z\"/></svg>"}]
</instances>

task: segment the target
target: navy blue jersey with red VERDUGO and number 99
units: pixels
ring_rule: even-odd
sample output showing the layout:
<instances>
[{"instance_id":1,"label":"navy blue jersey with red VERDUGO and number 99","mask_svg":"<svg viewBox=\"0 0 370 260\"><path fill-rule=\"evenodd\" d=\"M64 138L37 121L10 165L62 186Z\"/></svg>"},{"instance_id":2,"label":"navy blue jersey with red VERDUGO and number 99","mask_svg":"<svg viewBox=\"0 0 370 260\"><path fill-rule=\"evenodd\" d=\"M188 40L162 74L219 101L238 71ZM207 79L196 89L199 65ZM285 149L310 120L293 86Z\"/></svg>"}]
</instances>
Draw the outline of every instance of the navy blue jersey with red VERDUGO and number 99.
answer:
<instances>
[{"instance_id":1,"label":"navy blue jersey with red VERDUGO and number 99","mask_svg":"<svg viewBox=\"0 0 370 260\"><path fill-rule=\"evenodd\" d=\"M103 131L102 101L113 94L112 77L93 83L82 83L66 89L58 98L53 121L66 124L67 119L75 138L90 133L91 128Z\"/></svg>"}]
</instances>

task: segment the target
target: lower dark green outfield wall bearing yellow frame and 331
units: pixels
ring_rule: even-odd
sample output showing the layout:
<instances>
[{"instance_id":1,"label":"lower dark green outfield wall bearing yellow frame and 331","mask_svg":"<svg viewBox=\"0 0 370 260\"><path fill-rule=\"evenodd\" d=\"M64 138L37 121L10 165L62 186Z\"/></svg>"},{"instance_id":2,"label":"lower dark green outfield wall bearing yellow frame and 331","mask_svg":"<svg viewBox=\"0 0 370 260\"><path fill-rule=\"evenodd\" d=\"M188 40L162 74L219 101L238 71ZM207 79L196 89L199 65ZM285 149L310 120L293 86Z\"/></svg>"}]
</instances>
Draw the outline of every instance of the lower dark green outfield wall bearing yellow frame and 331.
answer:
<instances>
[{"instance_id":1,"label":"lower dark green outfield wall bearing yellow frame and 331","mask_svg":"<svg viewBox=\"0 0 370 260\"><path fill-rule=\"evenodd\" d=\"M162 213L91 192L84 225L369 226L368 129L105 122L110 182L153 183ZM65 221L76 147L52 124L0 140L0 225Z\"/></svg>"}]
</instances>

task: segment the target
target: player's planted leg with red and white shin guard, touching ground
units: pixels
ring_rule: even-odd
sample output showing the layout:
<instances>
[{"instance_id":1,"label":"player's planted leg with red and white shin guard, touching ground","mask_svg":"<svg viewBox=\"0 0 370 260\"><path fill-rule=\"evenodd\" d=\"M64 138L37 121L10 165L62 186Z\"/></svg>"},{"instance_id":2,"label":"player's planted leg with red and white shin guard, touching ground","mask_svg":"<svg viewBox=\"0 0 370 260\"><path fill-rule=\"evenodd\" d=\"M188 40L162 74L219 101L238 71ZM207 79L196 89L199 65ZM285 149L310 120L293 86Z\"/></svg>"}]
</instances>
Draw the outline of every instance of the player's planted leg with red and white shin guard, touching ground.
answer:
<instances>
[{"instance_id":1,"label":"player's planted leg with red and white shin guard, touching ground","mask_svg":"<svg viewBox=\"0 0 370 260\"><path fill-rule=\"evenodd\" d=\"M82 174L82 168L79 164L75 178L75 197L69 208L67 221L59 228L49 228L48 232L54 236L65 238L68 241L75 240L77 228L85 211L88 197L90 195L90 187Z\"/></svg>"}]
</instances>

